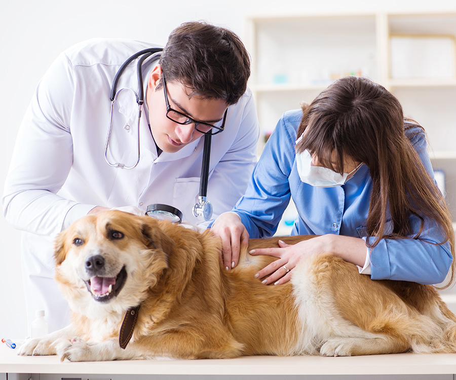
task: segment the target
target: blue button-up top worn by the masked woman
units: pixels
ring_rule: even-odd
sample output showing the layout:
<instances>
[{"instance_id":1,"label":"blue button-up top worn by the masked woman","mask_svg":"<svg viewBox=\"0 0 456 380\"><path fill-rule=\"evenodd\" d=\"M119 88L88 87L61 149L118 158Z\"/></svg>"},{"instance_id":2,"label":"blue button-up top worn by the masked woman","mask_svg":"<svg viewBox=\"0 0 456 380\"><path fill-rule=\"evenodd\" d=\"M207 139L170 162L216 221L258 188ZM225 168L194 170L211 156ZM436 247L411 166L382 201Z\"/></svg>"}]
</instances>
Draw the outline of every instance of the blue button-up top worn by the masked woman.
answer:
<instances>
[{"instance_id":1,"label":"blue button-up top worn by the masked woman","mask_svg":"<svg viewBox=\"0 0 456 380\"><path fill-rule=\"evenodd\" d=\"M251 238L272 236L293 199L298 215L291 235L336 234L367 237L366 222L372 179L369 168L362 165L345 185L314 187L301 182L295 161L296 132L302 111L285 112L264 147L249 182L246 194L234 210L241 217ZM432 178L434 172L426 150L426 137L419 127L406 130ZM412 237L420 229L421 220L411 215L414 234L407 239L382 239L369 248L371 278L436 284L444 281L451 265L449 243L440 244L443 237L437 225L425 219L419 239ZM392 222L389 226L392 231Z\"/></svg>"}]
</instances>

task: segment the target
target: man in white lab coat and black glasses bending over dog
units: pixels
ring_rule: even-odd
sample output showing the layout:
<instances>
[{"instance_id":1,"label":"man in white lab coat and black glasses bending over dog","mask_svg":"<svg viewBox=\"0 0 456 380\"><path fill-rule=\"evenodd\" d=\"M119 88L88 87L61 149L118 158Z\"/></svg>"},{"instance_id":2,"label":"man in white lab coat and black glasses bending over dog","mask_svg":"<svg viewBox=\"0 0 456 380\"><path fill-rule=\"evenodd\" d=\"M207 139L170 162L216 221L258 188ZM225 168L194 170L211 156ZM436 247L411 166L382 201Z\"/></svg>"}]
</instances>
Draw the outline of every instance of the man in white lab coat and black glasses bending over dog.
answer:
<instances>
[{"instance_id":1,"label":"man in white lab coat and black glasses bending over dog","mask_svg":"<svg viewBox=\"0 0 456 380\"><path fill-rule=\"evenodd\" d=\"M201 137L212 125L223 131L212 136L212 218L231 210L247 187L259 132L246 88L249 56L239 37L186 23L171 33L161 55L144 60L138 154L138 60L120 76L112 123L110 90L121 65L150 47L156 46L97 39L66 50L44 75L22 121L2 204L6 219L24 231L28 320L45 309L50 331L69 318L53 281L52 242L73 221L106 208L144 213L147 205L161 203L181 210L183 220L204 222L192 208L199 194ZM130 170L108 165L134 166L137 159Z\"/></svg>"}]
</instances>

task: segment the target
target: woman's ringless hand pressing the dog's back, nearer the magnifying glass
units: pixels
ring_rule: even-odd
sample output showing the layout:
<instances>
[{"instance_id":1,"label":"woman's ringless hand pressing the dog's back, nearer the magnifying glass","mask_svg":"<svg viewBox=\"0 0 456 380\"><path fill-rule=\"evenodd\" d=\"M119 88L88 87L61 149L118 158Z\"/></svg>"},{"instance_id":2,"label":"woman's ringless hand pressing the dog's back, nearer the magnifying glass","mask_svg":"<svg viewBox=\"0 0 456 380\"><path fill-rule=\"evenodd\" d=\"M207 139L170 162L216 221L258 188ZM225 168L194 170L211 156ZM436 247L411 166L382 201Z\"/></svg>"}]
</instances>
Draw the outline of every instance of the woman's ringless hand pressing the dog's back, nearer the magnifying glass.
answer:
<instances>
[{"instance_id":1,"label":"woman's ringless hand pressing the dog's back, nearer the magnifying glass","mask_svg":"<svg viewBox=\"0 0 456 380\"><path fill-rule=\"evenodd\" d=\"M234 212L225 212L215 219L211 231L222 241L223 267L228 271L236 267L241 247L249 244L249 233Z\"/></svg>"}]
</instances>

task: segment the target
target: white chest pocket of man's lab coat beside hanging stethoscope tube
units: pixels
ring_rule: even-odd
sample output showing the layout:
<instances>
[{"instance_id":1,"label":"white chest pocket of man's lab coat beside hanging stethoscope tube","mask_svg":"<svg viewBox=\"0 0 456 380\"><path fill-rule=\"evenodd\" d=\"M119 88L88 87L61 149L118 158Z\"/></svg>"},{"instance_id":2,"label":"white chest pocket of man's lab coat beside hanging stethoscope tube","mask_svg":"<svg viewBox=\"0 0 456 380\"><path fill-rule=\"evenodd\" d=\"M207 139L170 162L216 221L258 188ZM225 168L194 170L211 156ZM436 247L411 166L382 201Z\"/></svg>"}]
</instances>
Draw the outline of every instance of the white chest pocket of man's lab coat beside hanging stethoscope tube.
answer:
<instances>
[{"instance_id":1,"label":"white chest pocket of man's lab coat beside hanging stethoscope tube","mask_svg":"<svg viewBox=\"0 0 456 380\"><path fill-rule=\"evenodd\" d=\"M173 206L182 211L183 219L191 223L199 220L193 216L193 205L198 201L200 177L176 178L173 189ZM200 220L201 221L201 220Z\"/></svg>"}]
</instances>

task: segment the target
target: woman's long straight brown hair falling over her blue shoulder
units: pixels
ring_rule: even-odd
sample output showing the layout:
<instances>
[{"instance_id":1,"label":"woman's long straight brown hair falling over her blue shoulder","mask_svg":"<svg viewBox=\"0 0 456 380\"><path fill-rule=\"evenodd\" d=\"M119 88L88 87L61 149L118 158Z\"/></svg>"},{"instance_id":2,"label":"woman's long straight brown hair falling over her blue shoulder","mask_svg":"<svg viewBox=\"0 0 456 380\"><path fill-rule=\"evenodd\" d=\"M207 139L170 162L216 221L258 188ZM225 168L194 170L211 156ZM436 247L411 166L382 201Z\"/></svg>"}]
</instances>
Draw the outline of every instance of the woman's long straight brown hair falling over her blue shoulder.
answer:
<instances>
[{"instance_id":1,"label":"woman's long straight brown hair falling over her blue shoulder","mask_svg":"<svg viewBox=\"0 0 456 380\"><path fill-rule=\"evenodd\" d=\"M320 93L311 104L302 105L303 116L297 135L311 126L296 145L296 152L308 149L322 166L344 172L344 158L367 165L372 193L367 216L367 233L376 239L403 239L412 234L410 215L435 223L449 241L453 262L449 286L455 276L454 231L446 202L426 171L405 131L418 127L407 123L399 100L366 78L345 77ZM387 231L387 220L393 231Z\"/></svg>"}]
</instances>

